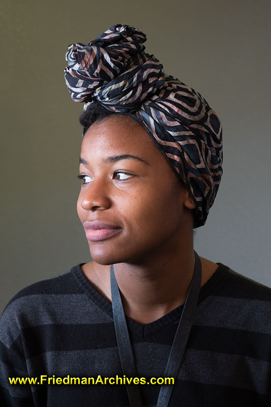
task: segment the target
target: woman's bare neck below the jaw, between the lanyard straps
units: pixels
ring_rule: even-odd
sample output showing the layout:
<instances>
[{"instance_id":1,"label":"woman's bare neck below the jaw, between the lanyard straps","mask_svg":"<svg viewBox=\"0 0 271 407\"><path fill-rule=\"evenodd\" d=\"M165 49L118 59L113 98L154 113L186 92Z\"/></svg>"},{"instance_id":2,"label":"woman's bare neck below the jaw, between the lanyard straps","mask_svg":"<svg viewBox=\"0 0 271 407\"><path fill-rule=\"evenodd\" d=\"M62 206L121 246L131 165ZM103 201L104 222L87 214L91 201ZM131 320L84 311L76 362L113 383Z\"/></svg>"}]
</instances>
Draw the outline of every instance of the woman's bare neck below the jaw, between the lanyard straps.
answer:
<instances>
[{"instance_id":1,"label":"woman's bare neck below the jaw, between the lanyard straps","mask_svg":"<svg viewBox=\"0 0 271 407\"><path fill-rule=\"evenodd\" d=\"M147 324L184 303L194 266L193 248L143 265L114 265L126 315Z\"/></svg>"}]
</instances>

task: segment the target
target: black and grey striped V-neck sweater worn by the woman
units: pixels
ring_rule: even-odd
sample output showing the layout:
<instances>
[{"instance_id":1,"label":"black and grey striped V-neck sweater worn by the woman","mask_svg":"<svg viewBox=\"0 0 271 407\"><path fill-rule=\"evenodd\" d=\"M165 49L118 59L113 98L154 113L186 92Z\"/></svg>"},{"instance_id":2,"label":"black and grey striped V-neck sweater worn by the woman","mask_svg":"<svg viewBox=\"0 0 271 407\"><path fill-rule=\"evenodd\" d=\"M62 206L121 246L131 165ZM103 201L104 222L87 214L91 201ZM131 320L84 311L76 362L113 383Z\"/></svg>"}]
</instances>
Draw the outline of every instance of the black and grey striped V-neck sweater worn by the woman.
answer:
<instances>
[{"instance_id":1,"label":"black and grey striped V-neck sweater worn by the woman","mask_svg":"<svg viewBox=\"0 0 271 407\"><path fill-rule=\"evenodd\" d=\"M85 278L82 264L24 288L4 310L2 406L129 406L120 382L38 384L41 375L123 376L112 306ZM169 405L270 406L271 289L218 265L200 289ZM183 306L145 325L127 317L138 377L164 376ZM15 385L9 377L37 377L37 382ZM139 386L142 405L154 407L160 386Z\"/></svg>"}]
</instances>

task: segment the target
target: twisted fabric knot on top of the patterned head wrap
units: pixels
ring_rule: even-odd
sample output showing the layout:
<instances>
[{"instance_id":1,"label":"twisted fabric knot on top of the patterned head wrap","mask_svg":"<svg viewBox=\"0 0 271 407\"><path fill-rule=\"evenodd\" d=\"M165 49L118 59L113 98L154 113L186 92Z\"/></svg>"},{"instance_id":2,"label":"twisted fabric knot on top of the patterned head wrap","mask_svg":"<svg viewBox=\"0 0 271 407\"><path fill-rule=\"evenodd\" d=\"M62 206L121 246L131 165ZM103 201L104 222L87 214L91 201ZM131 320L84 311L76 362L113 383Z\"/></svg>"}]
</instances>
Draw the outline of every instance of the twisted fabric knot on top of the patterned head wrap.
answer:
<instances>
[{"instance_id":1,"label":"twisted fabric knot on top of the patterned head wrap","mask_svg":"<svg viewBox=\"0 0 271 407\"><path fill-rule=\"evenodd\" d=\"M141 30L116 24L88 45L69 45L65 79L72 99L97 98L111 110L136 110L165 80L162 64L144 52L144 41Z\"/></svg>"}]
</instances>

